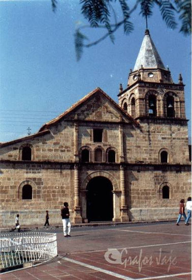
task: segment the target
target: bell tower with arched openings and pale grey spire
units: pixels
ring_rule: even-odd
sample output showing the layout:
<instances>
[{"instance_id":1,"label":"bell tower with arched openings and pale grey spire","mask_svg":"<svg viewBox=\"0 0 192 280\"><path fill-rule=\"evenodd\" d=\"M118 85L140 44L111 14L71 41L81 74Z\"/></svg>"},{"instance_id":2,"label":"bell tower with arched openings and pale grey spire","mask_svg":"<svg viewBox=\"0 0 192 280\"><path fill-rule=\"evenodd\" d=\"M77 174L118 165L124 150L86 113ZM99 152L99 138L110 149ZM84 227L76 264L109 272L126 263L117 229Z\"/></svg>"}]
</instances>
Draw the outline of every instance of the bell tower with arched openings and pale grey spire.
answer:
<instances>
[{"instance_id":1,"label":"bell tower with arched openings and pale grey spire","mask_svg":"<svg viewBox=\"0 0 192 280\"><path fill-rule=\"evenodd\" d=\"M138 121L186 120L182 76L179 74L178 83L173 82L148 29L134 69L130 70L127 88L123 90L120 85L118 100L119 106Z\"/></svg>"}]
</instances>

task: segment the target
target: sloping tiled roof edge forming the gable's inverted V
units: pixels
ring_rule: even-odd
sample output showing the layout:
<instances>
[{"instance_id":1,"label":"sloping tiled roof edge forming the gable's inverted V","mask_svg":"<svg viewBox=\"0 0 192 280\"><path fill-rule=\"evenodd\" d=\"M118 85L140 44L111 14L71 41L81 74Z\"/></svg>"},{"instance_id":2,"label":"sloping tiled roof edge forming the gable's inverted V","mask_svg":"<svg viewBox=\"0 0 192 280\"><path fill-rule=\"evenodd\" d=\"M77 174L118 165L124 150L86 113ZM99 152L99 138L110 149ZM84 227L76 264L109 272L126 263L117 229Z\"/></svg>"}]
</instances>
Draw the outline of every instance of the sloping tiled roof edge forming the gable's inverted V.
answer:
<instances>
[{"instance_id":1,"label":"sloping tiled roof edge forming the gable's inverted V","mask_svg":"<svg viewBox=\"0 0 192 280\"><path fill-rule=\"evenodd\" d=\"M78 102L76 102L75 104L73 104L69 109L67 109L64 113L62 113L61 115L59 115L58 117L54 118L53 120L51 120L50 122L44 124L39 131L42 131L44 129L47 129L50 125L57 123L60 119L62 119L63 117L66 117L68 114L70 114L73 110L77 109L80 105L82 105L85 101L87 101L91 96L93 96L94 94L102 94L104 95L111 103L113 103L113 105L121 111L121 114L123 114L124 116L128 117L130 119L130 121L135 125L135 126L139 126L139 123L133 118L131 117L129 114L127 114L112 98L110 98L104 91L102 91L102 89L100 88L96 88L95 90L91 91L90 93L88 93L87 95L85 95L82 99L80 99Z\"/></svg>"}]
</instances>

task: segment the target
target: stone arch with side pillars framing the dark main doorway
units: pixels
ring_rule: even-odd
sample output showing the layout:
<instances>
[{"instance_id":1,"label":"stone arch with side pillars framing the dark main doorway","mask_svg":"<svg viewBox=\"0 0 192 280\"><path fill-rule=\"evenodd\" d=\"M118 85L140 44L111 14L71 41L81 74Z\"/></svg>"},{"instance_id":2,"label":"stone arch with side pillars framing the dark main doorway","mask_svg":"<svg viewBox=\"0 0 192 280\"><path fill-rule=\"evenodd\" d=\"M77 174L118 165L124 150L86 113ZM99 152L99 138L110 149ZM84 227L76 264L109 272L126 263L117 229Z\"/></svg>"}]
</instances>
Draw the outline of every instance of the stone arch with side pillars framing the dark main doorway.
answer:
<instances>
[{"instance_id":1,"label":"stone arch with side pillars framing the dark main doorway","mask_svg":"<svg viewBox=\"0 0 192 280\"><path fill-rule=\"evenodd\" d=\"M91 180L94 178L102 177L104 178L103 182L111 184L111 191L112 193L112 203L113 203L113 213L111 219L113 221L120 221L120 194L121 191L119 190L119 186L117 180L111 175L109 172L106 171L96 171L89 174L84 181L82 182L81 189L80 189L80 196L81 196L81 209L82 209L82 219L84 222L87 222L89 217L87 217L87 197L89 189L87 187L91 187ZM94 180L92 181L94 183ZM89 185L90 184L90 185ZM94 185L93 185L94 188ZM109 187L108 187L109 188ZM98 205L100 207L100 205ZM103 217L104 218L104 217Z\"/></svg>"}]
</instances>

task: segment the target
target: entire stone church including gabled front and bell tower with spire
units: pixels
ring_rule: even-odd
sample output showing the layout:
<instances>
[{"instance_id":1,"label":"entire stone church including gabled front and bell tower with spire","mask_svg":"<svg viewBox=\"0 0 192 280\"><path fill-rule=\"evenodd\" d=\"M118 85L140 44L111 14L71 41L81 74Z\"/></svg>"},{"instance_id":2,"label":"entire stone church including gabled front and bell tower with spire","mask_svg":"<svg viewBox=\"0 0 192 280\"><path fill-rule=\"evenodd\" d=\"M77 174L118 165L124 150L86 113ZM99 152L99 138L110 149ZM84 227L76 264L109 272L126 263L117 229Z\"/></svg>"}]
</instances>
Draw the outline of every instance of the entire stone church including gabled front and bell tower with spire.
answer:
<instances>
[{"instance_id":1,"label":"entire stone church including gabled front and bell tower with spire","mask_svg":"<svg viewBox=\"0 0 192 280\"><path fill-rule=\"evenodd\" d=\"M184 85L150 37L118 104L97 88L33 134L0 145L0 221L74 223L176 218L190 196Z\"/></svg>"}]
</instances>

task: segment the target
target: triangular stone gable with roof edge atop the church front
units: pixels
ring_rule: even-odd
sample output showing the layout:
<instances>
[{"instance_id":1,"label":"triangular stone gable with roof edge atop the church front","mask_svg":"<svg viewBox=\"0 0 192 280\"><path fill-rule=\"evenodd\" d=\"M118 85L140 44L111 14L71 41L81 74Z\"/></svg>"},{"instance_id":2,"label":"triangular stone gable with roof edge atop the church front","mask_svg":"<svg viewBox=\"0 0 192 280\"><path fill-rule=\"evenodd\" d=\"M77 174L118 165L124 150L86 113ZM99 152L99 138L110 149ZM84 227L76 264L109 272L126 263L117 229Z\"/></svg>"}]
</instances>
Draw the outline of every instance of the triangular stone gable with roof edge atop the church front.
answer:
<instances>
[{"instance_id":1,"label":"triangular stone gable with roof edge atop the church front","mask_svg":"<svg viewBox=\"0 0 192 280\"><path fill-rule=\"evenodd\" d=\"M105 100L107 101L105 104ZM94 104L91 107L91 103ZM110 98L104 91L97 88L85 95L81 100L72 105L64 113L44 124L39 131L47 129L50 125L56 124L62 119L74 120L76 118L80 120L92 120L92 121L106 121L105 117L101 117L101 114L109 114L111 116L109 121L119 122L119 117L124 122L132 123L139 127L139 123L135 121L129 114L127 114L112 98ZM109 118L108 116L108 118Z\"/></svg>"}]
</instances>

